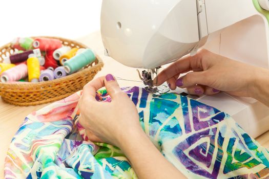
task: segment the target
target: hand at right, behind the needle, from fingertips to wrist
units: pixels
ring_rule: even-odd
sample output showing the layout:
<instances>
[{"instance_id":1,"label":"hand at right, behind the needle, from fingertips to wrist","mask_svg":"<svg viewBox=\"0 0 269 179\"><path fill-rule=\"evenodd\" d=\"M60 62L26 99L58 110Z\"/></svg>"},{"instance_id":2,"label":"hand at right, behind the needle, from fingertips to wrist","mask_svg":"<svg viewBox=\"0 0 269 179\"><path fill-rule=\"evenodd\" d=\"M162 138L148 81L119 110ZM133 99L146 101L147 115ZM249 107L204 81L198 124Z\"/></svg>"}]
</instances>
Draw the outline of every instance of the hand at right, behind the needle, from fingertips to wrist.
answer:
<instances>
[{"instance_id":1,"label":"hand at right, behind the needle, from fingertips to wrist","mask_svg":"<svg viewBox=\"0 0 269 179\"><path fill-rule=\"evenodd\" d=\"M223 91L251 97L258 70L258 67L200 50L195 56L186 56L172 63L158 75L155 83L156 80L157 85L167 81L171 89L176 86L187 88L193 95L213 95ZM188 74L179 78L183 73Z\"/></svg>"}]
</instances>

